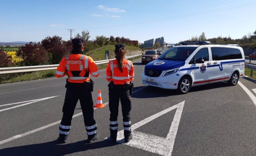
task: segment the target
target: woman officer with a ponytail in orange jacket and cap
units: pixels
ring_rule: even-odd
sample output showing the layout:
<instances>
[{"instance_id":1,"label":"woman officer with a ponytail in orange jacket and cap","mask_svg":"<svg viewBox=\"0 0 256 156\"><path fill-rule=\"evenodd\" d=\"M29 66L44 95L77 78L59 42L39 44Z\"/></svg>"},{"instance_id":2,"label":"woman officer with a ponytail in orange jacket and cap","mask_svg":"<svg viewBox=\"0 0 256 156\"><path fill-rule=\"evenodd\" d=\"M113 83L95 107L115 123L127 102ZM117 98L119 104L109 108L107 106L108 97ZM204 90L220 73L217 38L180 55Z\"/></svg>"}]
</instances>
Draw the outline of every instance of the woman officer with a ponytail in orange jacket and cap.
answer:
<instances>
[{"instance_id":1,"label":"woman officer with a ponytail in orange jacket and cap","mask_svg":"<svg viewBox=\"0 0 256 156\"><path fill-rule=\"evenodd\" d=\"M124 44L116 44L116 59L109 61L106 69L106 79L109 82L110 139L114 142L117 138L119 99L122 106L125 142L132 139L130 111L134 68L131 61L124 59L125 52Z\"/></svg>"}]
</instances>

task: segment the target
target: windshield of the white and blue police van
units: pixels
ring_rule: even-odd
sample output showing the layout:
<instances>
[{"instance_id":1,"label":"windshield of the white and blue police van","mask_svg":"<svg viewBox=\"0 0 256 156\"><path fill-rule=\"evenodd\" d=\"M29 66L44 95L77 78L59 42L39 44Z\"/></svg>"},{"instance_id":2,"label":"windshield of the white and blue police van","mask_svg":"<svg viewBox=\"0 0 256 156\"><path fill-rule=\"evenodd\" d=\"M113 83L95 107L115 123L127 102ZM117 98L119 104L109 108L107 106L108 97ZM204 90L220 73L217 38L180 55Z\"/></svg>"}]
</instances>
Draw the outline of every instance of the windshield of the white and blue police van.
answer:
<instances>
[{"instance_id":1,"label":"windshield of the white and blue police van","mask_svg":"<svg viewBox=\"0 0 256 156\"><path fill-rule=\"evenodd\" d=\"M173 47L162 54L159 59L185 61L197 47Z\"/></svg>"}]
</instances>

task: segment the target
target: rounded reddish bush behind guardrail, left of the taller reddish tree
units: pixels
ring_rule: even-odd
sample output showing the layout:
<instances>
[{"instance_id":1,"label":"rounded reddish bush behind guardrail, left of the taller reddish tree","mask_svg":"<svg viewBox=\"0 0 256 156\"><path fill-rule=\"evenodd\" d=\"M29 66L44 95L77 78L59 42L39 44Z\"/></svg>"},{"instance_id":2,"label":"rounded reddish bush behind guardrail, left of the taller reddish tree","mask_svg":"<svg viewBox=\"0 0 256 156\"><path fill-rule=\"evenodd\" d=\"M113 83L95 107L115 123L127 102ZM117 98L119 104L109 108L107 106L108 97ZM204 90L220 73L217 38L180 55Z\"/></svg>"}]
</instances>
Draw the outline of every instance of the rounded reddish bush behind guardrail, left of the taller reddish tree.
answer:
<instances>
[{"instance_id":1,"label":"rounded reddish bush behind guardrail, left of the taller reddish tree","mask_svg":"<svg viewBox=\"0 0 256 156\"><path fill-rule=\"evenodd\" d=\"M43 46L37 44L32 45L32 42L20 47L16 55L23 58L25 66L44 65L49 58Z\"/></svg>"}]
</instances>

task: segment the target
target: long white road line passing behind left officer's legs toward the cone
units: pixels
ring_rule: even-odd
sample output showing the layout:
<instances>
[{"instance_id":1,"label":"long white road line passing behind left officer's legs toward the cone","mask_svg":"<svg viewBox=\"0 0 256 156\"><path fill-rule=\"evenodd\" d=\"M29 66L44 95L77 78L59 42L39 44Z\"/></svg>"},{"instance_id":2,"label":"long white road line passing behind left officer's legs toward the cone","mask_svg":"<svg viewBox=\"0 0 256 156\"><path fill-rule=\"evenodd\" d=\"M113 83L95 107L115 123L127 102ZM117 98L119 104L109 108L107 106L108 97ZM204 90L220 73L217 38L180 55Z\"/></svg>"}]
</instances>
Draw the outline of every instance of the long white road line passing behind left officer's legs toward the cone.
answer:
<instances>
[{"instance_id":1,"label":"long white road line passing behind left officer's legs toward the cone","mask_svg":"<svg viewBox=\"0 0 256 156\"><path fill-rule=\"evenodd\" d=\"M105 105L108 105L108 102L105 103ZM95 110L95 109L97 109L97 108L94 108L94 110ZM80 115L82 115L82 114L83 114L82 112L81 112L81 113L78 113L78 114L75 114L75 115L73 115L72 118L78 117L78 116L80 116ZM56 121L56 122L53 122L53 123L50 123L50 124L48 124L48 125L39 127L39 128L37 128L37 129L31 130L31 131L28 131L28 132L25 132L25 133L22 133L22 134L15 135L15 136L13 136L13 137L10 137L10 138L8 138L8 139L5 139L5 140L0 141L0 145L1 145L1 144L4 144L4 143L6 143L6 142L10 142L10 141L12 141L12 140L21 138L21 137L23 137L23 136L26 136L26 135L29 135L29 134L38 132L38 131L40 131L40 130L44 130L44 129L46 129L46 128L49 128L49 127L54 126L54 125L59 124L59 123L61 123L61 120Z\"/></svg>"}]
</instances>

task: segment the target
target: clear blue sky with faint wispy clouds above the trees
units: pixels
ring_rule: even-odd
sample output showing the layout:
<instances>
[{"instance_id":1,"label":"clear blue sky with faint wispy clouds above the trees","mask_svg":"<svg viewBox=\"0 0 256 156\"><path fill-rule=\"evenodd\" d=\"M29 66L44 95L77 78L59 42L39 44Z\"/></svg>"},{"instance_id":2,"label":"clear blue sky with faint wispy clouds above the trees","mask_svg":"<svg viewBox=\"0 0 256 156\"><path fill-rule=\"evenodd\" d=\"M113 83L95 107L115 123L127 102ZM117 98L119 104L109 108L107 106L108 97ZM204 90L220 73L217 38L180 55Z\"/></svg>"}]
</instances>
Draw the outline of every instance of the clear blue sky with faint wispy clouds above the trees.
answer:
<instances>
[{"instance_id":1,"label":"clear blue sky with faint wispy clouds above the trees","mask_svg":"<svg viewBox=\"0 0 256 156\"><path fill-rule=\"evenodd\" d=\"M252 0L4 0L0 6L0 42L41 41L74 29L143 42L164 37L179 42L205 32L207 38L233 39L256 30Z\"/></svg>"}]
</instances>

